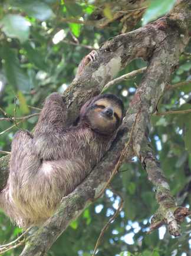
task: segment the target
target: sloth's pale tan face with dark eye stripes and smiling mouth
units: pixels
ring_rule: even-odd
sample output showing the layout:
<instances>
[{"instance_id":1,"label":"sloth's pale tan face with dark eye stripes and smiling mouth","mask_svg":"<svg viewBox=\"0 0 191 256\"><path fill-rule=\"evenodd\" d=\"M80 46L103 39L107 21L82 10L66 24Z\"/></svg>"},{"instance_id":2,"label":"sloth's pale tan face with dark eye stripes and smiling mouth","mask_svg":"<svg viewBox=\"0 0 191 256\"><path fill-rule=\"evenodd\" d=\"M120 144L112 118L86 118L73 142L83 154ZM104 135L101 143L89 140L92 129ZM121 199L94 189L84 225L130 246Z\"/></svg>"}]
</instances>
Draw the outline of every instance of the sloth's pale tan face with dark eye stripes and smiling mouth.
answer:
<instances>
[{"instance_id":1,"label":"sloth's pale tan face with dark eye stripes and smiling mouth","mask_svg":"<svg viewBox=\"0 0 191 256\"><path fill-rule=\"evenodd\" d=\"M101 134L111 134L120 126L122 112L114 100L104 98L90 104L85 116L93 130Z\"/></svg>"}]
</instances>

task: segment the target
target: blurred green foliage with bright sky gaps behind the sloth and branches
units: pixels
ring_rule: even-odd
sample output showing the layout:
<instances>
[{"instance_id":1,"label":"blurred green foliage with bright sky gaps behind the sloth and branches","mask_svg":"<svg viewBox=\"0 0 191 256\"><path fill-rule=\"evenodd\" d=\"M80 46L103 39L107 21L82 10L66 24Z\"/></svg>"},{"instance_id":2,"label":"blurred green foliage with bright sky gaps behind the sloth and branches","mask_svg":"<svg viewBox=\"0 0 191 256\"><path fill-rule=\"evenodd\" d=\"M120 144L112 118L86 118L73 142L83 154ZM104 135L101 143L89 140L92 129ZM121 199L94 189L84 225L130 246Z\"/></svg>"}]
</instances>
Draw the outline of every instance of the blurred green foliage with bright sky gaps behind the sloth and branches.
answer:
<instances>
[{"instance_id":1,"label":"blurred green foliage with bright sky gaps behind the sloth and branches","mask_svg":"<svg viewBox=\"0 0 191 256\"><path fill-rule=\"evenodd\" d=\"M142 21L131 29L165 14L174 4L172 0L153 2L146 5ZM124 31L124 23L119 20L104 28L94 25L99 19L100 14L97 12L100 9L103 17L111 19L113 1L1 1L0 107L8 116L16 114L17 117L23 117L38 113L31 106L41 108L48 94L53 91L62 93L73 80L81 59L91 48L98 48L108 38ZM179 67L172 74L170 84L191 80L191 45L188 45L186 52L180 57ZM118 75L145 65L142 60L133 61ZM121 97L127 108L140 79L141 75L126 80L109 88L107 92ZM160 100L159 112L190 109L190 85L167 90ZM2 111L1 117L4 117ZM18 123L18 126L32 130L37 119L38 116L34 116ZM0 150L10 151L12 137L18 130L18 127L9 129L13 125L0 121ZM172 193L180 205L187 207L191 203L190 129L190 113L153 115L149 127L150 140L169 179ZM157 205L147 174L137 159L121 166L112 186L123 197L124 207L105 232L97 255L191 255L189 218L183 224L180 238L170 237L165 228L147 234L150 216ZM48 255L91 255L101 228L114 214L119 201L120 198L107 189L105 196L85 209L80 218L61 235ZM0 212L1 244L17 238L19 232L21 229L14 227ZM5 255L16 256L20 251L21 248L15 249Z\"/></svg>"}]
</instances>

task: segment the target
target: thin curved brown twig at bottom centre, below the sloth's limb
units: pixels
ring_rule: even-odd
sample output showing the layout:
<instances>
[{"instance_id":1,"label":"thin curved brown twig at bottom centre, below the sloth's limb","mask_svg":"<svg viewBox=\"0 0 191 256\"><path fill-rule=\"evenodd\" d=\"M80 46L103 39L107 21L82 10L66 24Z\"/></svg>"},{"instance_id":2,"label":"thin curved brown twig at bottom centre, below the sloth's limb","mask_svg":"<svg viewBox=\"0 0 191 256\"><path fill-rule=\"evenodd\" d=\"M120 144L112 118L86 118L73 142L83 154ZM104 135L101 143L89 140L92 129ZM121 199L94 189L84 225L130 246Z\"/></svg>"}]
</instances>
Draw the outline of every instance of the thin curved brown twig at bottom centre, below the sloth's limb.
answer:
<instances>
[{"instance_id":1,"label":"thin curved brown twig at bottom centre, below the sloth's limb","mask_svg":"<svg viewBox=\"0 0 191 256\"><path fill-rule=\"evenodd\" d=\"M116 192L114 192L116 193ZM116 217L118 216L118 214L120 213L121 209L123 208L123 198L118 194L116 193L117 196L120 197L120 205L118 206L117 208L117 211L114 213L114 215L108 220L108 222L106 223L106 225L104 225L103 229L101 229L101 232L100 232L100 235L97 239L97 242L96 242L96 245L94 247L94 252L92 254L92 256L95 256L96 255L96 251L97 251L97 248L100 244L100 241L101 241L101 238L103 237L104 235L104 232L106 231L106 229L108 228L108 226L111 224L112 221L114 221L114 219L116 219Z\"/></svg>"}]
</instances>

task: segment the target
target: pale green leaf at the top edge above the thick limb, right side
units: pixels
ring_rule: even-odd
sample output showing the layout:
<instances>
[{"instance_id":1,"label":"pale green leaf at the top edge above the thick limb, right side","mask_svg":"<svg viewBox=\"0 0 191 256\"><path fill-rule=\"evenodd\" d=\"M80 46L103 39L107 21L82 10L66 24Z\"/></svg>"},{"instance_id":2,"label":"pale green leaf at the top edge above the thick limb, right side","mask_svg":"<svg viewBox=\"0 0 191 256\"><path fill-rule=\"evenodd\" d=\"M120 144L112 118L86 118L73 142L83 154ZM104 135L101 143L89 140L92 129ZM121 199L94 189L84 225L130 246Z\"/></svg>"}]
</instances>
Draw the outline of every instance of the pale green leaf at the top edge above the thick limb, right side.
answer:
<instances>
[{"instance_id":1,"label":"pale green leaf at the top edge above the thick limb, right side","mask_svg":"<svg viewBox=\"0 0 191 256\"><path fill-rule=\"evenodd\" d=\"M146 12L143 15L142 25L146 25L148 22L153 21L161 17L162 15L169 12L176 0L154 0L150 2L149 8L147 8Z\"/></svg>"}]
</instances>

